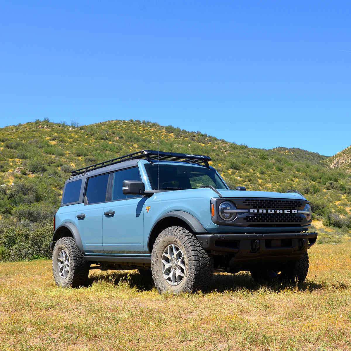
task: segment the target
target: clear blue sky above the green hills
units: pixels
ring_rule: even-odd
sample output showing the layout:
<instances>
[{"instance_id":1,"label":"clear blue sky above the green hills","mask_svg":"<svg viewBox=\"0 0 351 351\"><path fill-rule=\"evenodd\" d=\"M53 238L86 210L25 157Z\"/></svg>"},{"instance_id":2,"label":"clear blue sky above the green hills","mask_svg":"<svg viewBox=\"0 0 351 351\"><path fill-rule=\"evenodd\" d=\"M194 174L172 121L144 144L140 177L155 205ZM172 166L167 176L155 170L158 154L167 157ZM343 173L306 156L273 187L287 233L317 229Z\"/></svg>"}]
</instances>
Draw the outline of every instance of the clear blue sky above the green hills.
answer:
<instances>
[{"instance_id":1,"label":"clear blue sky above the green hills","mask_svg":"<svg viewBox=\"0 0 351 351\"><path fill-rule=\"evenodd\" d=\"M350 1L2 1L0 127L139 119L351 144Z\"/></svg>"}]
</instances>

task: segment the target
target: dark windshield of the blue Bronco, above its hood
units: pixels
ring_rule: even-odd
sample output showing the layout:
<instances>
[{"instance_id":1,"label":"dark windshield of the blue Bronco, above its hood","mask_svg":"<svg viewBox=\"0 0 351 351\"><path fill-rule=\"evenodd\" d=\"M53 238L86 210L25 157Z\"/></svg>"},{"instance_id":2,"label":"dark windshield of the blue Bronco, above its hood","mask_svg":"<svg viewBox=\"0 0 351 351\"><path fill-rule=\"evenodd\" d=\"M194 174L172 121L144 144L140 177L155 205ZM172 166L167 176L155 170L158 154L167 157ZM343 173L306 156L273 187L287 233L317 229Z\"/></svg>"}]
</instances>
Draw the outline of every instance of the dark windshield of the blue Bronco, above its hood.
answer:
<instances>
[{"instance_id":1,"label":"dark windshield of the blue Bronco, above its hood","mask_svg":"<svg viewBox=\"0 0 351 351\"><path fill-rule=\"evenodd\" d=\"M147 164L146 173L152 189L195 189L212 185L215 189L227 189L215 170L187 165ZM160 187L158 187L160 186Z\"/></svg>"}]
</instances>

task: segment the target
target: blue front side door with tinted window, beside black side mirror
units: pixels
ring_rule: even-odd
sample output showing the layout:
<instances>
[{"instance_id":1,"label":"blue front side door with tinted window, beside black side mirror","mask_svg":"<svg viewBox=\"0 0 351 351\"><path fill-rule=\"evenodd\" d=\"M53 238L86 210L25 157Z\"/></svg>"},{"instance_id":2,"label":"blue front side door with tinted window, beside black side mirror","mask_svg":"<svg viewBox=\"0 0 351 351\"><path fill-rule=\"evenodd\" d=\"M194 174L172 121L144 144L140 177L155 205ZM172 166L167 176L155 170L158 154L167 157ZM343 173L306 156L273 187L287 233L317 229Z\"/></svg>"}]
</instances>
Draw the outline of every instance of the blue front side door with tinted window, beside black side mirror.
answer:
<instances>
[{"instance_id":1,"label":"blue front side door with tinted window, beside black side mirror","mask_svg":"<svg viewBox=\"0 0 351 351\"><path fill-rule=\"evenodd\" d=\"M105 253L143 254L143 221L146 197L122 193L123 180L141 181L138 167L113 173L111 201L102 217L102 244Z\"/></svg>"}]
</instances>

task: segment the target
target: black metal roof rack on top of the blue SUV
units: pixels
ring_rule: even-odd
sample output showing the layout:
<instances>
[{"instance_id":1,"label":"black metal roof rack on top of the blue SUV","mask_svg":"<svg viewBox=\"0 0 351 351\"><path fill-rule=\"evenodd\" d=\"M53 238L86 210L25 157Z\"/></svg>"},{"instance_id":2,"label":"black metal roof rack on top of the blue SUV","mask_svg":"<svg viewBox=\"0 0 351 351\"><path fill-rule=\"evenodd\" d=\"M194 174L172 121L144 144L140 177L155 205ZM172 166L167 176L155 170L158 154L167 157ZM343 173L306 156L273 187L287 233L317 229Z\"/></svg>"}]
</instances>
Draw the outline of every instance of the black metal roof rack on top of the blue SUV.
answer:
<instances>
[{"instance_id":1,"label":"black metal roof rack on top of the blue SUV","mask_svg":"<svg viewBox=\"0 0 351 351\"><path fill-rule=\"evenodd\" d=\"M141 150L141 151L133 152L128 155L113 158L112 160L100 162L95 165L79 168L78 170L71 172L71 177L77 176L78 174L82 174L87 171L96 170L98 168L111 166L116 163L134 160L134 159L145 159L145 160L148 160L150 163L152 163L153 160L181 161L181 162L189 162L189 163L197 163L197 164L203 163L205 164L206 167L208 167L208 162L211 161L210 156L190 155L190 154L182 154L177 152L163 152L163 151L155 151L155 150Z\"/></svg>"}]
</instances>

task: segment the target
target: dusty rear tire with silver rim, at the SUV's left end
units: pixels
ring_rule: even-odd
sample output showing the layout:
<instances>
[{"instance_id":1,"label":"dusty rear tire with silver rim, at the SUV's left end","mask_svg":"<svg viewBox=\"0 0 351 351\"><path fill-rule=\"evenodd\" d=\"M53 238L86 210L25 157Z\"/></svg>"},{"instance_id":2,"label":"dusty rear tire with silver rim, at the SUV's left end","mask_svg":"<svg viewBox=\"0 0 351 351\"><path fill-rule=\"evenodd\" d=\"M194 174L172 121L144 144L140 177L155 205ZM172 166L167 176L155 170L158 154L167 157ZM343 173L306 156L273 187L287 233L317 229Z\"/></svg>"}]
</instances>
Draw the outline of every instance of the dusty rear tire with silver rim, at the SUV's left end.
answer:
<instances>
[{"instance_id":1,"label":"dusty rear tire with silver rim, at the SUV's left end","mask_svg":"<svg viewBox=\"0 0 351 351\"><path fill-rule=\"evenodd\" d=\"M52 272L55 283L62 287L86 286L90 263L84 259L71 237L57 240L52 252Z\"/></svg>"}]
</instances>

